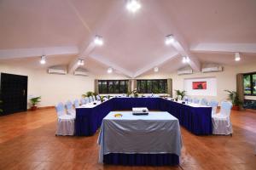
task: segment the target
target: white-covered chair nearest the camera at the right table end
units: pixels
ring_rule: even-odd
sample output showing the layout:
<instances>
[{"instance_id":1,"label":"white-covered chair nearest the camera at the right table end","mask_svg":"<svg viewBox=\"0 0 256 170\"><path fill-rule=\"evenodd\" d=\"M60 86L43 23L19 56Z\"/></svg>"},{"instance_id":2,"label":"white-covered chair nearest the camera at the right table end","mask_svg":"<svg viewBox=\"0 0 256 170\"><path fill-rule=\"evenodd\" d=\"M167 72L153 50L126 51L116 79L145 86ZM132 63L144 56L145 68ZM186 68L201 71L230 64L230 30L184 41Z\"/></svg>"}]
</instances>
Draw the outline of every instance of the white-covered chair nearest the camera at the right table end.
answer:
<instances>
[{"instance_id":1,"label":"white-covered chair nearest the camera at the right table end","mask_svg":"<svg viewBox=\"0 0 256 170\"><path fill-rule=\"evenodd\" d=\"M221 103L220 112L212 115L212 133L229 135L233 133L230 122L230 111L232 104L229 101Z\"/></svg>"}]
</instances>

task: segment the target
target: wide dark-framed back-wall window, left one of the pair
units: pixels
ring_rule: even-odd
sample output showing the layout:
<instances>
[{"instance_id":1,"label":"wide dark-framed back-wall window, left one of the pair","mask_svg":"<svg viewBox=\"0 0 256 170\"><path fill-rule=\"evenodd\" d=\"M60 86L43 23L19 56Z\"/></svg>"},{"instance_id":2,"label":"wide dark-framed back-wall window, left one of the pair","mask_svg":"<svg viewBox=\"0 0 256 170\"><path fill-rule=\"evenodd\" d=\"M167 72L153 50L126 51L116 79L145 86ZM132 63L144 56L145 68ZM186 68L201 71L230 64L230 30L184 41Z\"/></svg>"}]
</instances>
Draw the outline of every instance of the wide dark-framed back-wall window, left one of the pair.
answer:
<instances>
[{"instance_id":1,"label":"wide dark-framed back-wall window, left one of the pair","mask_svg":"<svg viewBox=\"0 0 256 170\"><path fill-rule=\"evenodd\" d=\"M128 80L99 80L99 94L127 94Z\"/></svg>"}]
</instances>

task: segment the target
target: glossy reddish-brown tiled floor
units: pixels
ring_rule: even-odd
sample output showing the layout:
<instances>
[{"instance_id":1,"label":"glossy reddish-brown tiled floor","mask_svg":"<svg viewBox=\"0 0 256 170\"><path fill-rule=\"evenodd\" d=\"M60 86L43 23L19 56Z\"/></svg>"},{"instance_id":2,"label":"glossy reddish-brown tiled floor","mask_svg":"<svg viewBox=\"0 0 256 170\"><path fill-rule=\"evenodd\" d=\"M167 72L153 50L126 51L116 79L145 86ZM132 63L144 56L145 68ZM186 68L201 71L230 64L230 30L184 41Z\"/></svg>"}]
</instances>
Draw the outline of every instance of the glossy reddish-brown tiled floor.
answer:
<instances>
[{"instance_id":1,"label":"glossy reddish-brown tiled floor","mask_svg":"<svg viewBox=\"0 0 256 170\"><path fill-rule=\"evenodd\" d=\"M256 113L232 111L234 134L195 136L182 127L179 167L103 166L98 133L92 137L55 137L55 110L0 116L0 169L256 169Z\"/></svg>"}]
</instances>

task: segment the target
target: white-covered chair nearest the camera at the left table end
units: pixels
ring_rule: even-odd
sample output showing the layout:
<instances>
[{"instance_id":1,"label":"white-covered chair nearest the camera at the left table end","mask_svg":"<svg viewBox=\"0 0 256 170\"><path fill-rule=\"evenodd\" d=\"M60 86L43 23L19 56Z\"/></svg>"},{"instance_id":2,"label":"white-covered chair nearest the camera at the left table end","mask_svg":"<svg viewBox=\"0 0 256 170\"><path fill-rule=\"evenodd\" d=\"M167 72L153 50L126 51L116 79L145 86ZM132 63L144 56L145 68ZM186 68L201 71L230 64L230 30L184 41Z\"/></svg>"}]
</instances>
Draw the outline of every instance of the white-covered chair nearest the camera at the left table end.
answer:
<instances>
[{"instance_id":1,"label":"white-covered chair nearest the camera at the left table end","mask_svg":"<svg viewBox=\"0 0 256 170\"><path fill-rule=\"evenodd\" d=\"M56 105L55 109L58 116L55 135L73 135L75 117L66 114L65 107L62 103Z\"/></svg>"}]
</instances>

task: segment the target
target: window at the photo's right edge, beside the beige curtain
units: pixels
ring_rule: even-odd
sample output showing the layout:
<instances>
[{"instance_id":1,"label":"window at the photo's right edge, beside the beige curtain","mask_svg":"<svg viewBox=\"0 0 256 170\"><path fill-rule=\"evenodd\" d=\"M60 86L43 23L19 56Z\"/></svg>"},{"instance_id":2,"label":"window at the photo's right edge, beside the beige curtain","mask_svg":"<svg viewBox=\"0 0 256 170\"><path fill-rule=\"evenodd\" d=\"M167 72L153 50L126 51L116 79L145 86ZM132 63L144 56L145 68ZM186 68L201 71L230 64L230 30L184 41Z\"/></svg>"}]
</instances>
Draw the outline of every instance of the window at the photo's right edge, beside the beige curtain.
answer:
<instances>
[{"instance_id":1,"label":"window at the photo's right edge, beside the beige curtain","mask_svg":"<svg viewBox=\"0 0 256 170\"><path fill-rule=\"evenodd\" d=\"M256 95L256 73L243 75L243 88L245 95Z\"/></svg>"}]
</instances>

